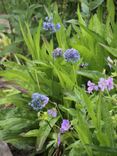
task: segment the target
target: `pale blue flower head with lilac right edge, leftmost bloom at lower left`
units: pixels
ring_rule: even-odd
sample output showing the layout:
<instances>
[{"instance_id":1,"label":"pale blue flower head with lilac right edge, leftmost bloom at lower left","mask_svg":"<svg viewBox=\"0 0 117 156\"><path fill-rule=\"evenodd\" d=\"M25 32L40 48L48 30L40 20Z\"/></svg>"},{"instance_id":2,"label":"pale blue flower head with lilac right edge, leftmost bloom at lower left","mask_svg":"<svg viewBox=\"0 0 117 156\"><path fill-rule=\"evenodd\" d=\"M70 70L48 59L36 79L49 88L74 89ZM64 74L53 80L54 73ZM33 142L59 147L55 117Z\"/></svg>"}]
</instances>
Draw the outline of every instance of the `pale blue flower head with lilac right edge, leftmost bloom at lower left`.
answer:
<instances>
[{"instance_id":1,"label":"pale blue flower head with lilac right edge, leftmost bloom at lower left","mask_svg":"<svg viewBox=\"0 0 117 156\"><path fill-rule=\"evenodd\" d=\"M43 94L33 93L29 105L36 111L41 110L49 102L49 98Z\"/></svg>"}]
</instances>

